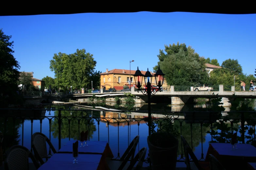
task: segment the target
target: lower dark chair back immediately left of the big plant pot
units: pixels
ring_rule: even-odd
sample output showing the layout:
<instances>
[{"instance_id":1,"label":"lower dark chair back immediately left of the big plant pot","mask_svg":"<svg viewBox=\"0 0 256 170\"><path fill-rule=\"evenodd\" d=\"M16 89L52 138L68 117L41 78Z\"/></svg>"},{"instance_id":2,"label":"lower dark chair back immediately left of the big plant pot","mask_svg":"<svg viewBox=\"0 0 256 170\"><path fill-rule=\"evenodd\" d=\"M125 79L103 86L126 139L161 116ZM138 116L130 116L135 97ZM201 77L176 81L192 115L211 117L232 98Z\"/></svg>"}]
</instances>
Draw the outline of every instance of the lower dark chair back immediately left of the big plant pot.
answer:
<instances>
[{"instance_id":1,"label":"lower dark chair back immediately left of the big plant pot","mask_svg":"<svg viewBox=\"0 0 256 170\"><path fill-rule=\"evenodd\" d=\"M139 170L142 168L143 166L143 162L145 160L145 156L146 156L146 152L147 149L144 147L142 148L134 157L134 159L130 162L130 165L128 166L127 170ZM136 164L136 162L138 161L138 164L136 165L135 168L134 165Z\"/></svg>"}]
</instances>

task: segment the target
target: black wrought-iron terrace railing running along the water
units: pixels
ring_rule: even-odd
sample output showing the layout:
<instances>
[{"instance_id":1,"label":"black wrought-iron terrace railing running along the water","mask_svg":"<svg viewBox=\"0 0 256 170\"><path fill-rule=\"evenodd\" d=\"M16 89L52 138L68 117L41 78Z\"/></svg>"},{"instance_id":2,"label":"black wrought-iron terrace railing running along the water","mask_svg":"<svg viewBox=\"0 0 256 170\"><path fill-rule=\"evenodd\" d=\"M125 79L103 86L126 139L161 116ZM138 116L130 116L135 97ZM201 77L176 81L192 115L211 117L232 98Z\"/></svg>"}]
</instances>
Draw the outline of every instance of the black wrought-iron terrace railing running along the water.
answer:
<instances>
[{"instance_id":1,"label":"black wrought-iron terrace railing running along the water","mask_svg":"<svg viewBox=\"0 0 256 170\"><path fill-rule=\"evenodd\" d=\"M88 130L89 141L108 141L114 159L120 159L136 135L140 135L139 151L147 146L147 111L106 111L77 109L0 109L0 127L4 133L4 152L20 144L31 149L33 133L44 133L56 149L68 140L79 140L80 132ZM46 113L47 111L47 113ZM230 143L231 135L238 132L239 143L255 143L255 111L252 112L152 112L155 131L171 124L183 135L198 160L205 160L211 142ZM227 115L227 116L221 116ZM169 115L169 118L164 117ZM184 150L178 135L178 161L184 162ZM88 142L90 145L90 142ZM47 146L48 147L48 146ZM230 146L231 147L231 146ZM51 151L49 148L49 155ZM136 153L135 153L136 154ZM145 162L147 163L148 158Z\"/></svg>"}]
</instances>

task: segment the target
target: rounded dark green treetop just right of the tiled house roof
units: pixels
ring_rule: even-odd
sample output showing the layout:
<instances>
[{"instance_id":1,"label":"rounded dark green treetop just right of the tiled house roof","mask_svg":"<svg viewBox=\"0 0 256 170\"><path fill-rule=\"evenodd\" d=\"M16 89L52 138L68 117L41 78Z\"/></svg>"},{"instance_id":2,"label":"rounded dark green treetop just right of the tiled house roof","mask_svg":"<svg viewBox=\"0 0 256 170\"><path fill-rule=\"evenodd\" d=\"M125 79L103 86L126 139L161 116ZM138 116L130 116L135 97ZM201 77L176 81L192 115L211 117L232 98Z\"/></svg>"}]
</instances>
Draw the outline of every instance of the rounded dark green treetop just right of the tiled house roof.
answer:
<instances>
[{"instance_id":1,"label":"rounded dark green treetop just right of the tiled house roof","mask_svg":"<svg viewBox=\"0 0 256 170\"><path fill-rule=\"evenodd\" d=\"M235 75L243 74L242 66L240 64L238 64L237 59L236 60L234 60L234 59L225 60L221 64L221 67L229 69L231 71L231 74L235 74Z\"/></svg>"}]
</instances>

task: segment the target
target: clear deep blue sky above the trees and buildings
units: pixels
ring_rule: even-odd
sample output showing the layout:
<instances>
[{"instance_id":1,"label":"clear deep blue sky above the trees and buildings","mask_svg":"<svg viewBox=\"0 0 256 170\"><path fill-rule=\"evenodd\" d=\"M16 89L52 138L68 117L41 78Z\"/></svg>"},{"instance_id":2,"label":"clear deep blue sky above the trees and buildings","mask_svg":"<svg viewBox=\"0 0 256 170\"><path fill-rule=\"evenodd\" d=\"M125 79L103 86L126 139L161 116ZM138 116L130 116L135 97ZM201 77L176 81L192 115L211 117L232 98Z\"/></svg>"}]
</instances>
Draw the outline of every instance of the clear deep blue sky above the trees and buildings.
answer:
<instances>
[{"instance_id":1,"label":"clear deep blue sky above the trees and buildings","mask_svg":"<svg viewBox=\"0 0 256 170\"><path fill-rule=\"evenodd\" d=\"M205 58L238 59L247 75L255 74L256 14L206 13L85 13L0 16L0 28L12 35L20 71L34 78L54 77L54 53L85 49L94 55L97 71L153 71L164 45L185 43Z\"/></svg>"}]
</instances>

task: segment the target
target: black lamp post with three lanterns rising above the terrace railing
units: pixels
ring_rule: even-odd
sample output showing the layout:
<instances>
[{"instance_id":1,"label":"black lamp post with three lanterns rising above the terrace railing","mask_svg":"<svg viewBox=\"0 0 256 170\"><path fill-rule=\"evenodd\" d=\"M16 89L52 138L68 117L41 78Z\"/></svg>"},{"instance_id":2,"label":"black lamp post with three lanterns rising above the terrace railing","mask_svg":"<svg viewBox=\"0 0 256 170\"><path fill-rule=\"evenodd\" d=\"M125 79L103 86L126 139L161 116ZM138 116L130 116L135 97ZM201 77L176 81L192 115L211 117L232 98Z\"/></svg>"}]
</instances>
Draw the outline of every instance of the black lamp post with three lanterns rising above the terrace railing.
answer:
<instances>
[{"instance_id":1,"label":"black lamp post with three lanterns rising above the terrace railing","mask_svg":"<svg viewBox=\"0 0 256 170\"><path fill-rule=\"evenodd\" d=\"M150 96L151 94L155 94L157 91L162 91L161 90L161 87L162 87L162 84L163 84L163 77L164 77L165 74L163 74L162 70L160 70L160 67L158 67L158 70L156 72L156 74L154 75L155 79L156 79L156 83L157 83L157 86L158 88L155 89L156 91L151 91L151 81L152 81L152 77L153 75L148 71L146 71L145 75L143 75L141 73L141 71L139 70L139 67L138 67L138 70L136 70L135 74L133 75L134 76L134 79L135 79L135 83L136 83L136 86L138 87L138 91L141 91L143 94L147 94L147 100L148 100L148 119L147 119L147 122L148 122L148 135L151 134L151 102L150 102ZM141 86L143 85L143 79L144 79L144 82L145 82L145 85L147 88L145 89L141 89Z\"/></svg>"}]
</instances>

